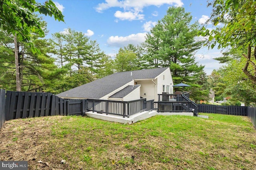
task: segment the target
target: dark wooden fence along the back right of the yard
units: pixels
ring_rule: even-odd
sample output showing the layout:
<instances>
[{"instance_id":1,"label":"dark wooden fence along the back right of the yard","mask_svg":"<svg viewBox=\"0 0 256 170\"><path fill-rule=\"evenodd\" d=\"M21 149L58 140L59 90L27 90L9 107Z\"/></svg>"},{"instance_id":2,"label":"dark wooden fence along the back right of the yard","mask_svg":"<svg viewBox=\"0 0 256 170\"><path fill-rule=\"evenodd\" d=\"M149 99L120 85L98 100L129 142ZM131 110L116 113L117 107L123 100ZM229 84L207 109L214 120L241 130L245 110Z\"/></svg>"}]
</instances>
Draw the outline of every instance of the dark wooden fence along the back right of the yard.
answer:
<instances>
[{"instance_id":1,"label":"dark wooden fence along the back right of the yard","mask_svg":"<svg viewBox=\"0 0 256 170\"><path fill-rule=\"evenodd\" d=\"M198 111L202 113L220 113L224 115L247 116L248 107L246 106L220 106L211 104L199 104Z\"/></svg>"}]
</instances>

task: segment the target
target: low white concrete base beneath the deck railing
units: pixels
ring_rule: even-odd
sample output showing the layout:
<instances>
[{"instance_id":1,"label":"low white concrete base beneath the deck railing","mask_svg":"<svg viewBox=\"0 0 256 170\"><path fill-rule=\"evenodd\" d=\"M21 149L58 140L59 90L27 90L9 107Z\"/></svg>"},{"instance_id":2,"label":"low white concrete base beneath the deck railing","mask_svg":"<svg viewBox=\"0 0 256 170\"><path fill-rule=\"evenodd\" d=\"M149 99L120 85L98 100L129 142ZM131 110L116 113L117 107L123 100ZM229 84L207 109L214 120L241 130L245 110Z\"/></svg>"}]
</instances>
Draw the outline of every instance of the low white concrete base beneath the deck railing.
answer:
<instances>
[{"instance_id":1,"label":"low white concrete base beneath the deck railing","mask_svg":"<svg viewBox=\"0 0 256 170\"><path fill-rule=\"evenodd\" d=\"M96 113L92 111L86 112L88 117L93 117L96 119L124 123L124 124L132 124L140 120L148 119L149 117L155 115L186 115L186 116L193 116L192 112L174 112L174 113L157 113L157 111L143 111L141 113L137 113L135 115L131 115L130 117L122 117L118 115L106 115L102 113Z\"/></svg>"}]
</instances>

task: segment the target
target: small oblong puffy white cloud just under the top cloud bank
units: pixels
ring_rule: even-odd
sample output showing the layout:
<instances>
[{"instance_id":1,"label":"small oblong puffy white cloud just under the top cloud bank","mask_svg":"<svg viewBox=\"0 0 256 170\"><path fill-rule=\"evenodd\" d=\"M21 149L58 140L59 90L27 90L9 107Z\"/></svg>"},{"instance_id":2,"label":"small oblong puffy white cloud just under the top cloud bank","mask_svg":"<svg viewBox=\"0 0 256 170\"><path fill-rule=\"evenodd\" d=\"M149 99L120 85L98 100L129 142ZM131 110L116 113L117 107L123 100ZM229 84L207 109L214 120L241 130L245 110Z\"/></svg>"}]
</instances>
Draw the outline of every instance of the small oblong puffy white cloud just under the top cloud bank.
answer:
<instances>
[{"instance_id":1,"label":"small oblong puffy white cloud just under the top cloud bank","mask_svg":"<svg viewBox=\"0 0 256 170\"><path fill-rule=\"evenodd\" d=\"M129 12L116 11L114 16L120 20L129 20L129 21L144 19L143 14L139 14L139 12L132 12L132 11L129 11Z\"/></svg>"}]
</instances>

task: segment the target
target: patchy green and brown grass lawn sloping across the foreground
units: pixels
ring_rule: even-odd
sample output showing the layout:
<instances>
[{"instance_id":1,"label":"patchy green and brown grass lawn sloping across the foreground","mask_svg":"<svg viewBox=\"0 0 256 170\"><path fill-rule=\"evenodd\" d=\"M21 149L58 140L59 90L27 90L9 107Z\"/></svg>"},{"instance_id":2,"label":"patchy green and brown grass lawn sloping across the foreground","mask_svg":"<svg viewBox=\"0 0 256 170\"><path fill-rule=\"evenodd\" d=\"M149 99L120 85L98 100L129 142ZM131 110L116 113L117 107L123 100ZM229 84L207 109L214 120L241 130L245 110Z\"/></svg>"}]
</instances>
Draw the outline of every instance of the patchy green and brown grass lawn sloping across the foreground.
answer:
<instances>
[{"instance_id":1,"label":"patchy green and brown grass lawn sloping across the foreground","mask_svg":"<svg viewBox=\"0 0 256 170\"><path fill-rule=\"evenodd\" d=\"M256 169L248 117L203 115L209 119L154 116L132 125L81 116L6 121L0 160L26 160L30 170Z\"/></svg>"}]
</instances>

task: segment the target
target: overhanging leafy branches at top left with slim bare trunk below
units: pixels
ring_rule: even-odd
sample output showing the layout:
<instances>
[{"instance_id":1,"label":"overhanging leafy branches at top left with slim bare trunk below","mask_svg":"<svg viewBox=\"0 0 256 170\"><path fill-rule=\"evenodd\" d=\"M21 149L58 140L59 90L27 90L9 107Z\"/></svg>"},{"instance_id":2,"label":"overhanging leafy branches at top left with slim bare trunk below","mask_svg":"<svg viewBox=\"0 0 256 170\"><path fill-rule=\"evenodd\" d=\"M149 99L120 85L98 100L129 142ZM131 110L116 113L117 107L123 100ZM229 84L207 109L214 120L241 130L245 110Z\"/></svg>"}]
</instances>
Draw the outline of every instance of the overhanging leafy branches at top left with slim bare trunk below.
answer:
<instances>
[{"instance_id":1,"label":"overhanging leafy branches at top left with slim bare trunk below","mask_svg":"<svg viewBox=\"0 0 256 170\"><path fill-rule=\"evenodd\" d=\"M54 16L56 20L64 21L64 16L52 0L46 1L43 5L35 0L0 0L0 26L8 33L14 35L17 91L21 90L20 82L22 81L19 79L18 41L27 42L32 47L33 53L40 53L38 49L34 48L30 40L33 37L33 33L44 37L44 30L40 20L34 16L34 12Z\"/></svg>"}]
</instances>

